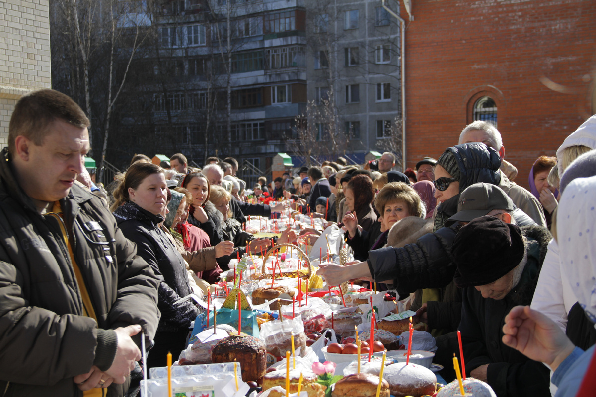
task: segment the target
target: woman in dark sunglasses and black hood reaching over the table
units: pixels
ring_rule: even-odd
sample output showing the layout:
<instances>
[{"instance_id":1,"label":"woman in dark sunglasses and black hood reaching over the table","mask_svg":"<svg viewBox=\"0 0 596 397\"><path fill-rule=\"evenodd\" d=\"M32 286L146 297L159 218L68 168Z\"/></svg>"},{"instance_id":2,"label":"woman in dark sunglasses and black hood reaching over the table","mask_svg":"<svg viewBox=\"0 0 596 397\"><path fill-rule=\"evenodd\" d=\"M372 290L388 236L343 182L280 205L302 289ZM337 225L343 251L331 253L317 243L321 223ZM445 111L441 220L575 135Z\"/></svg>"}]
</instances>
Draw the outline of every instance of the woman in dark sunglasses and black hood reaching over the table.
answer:
<instances>
[{"instance_id":1,"label":"woman in dark sunglasses and black hood reaching over the table","mask_svg":"<svg viewBox=\"0 0 596 397\"><path fill-rule=\"evenodd\" d=\"M443 223L457 212L460 193L478 182L498 185L501 158L484 143L465 143L445 150L434 168L437 199L433 233L403 248L386 247L368 252L368 260L344 267L322 265L317 272L330 285L349 279L373 277L393 283L400 290L446 287L453 280L455 265L449 260L455 230ZM444 295L444 294L440 294ZM437 296L437 299L442 296Z\"/></svg>"}]
</instances>

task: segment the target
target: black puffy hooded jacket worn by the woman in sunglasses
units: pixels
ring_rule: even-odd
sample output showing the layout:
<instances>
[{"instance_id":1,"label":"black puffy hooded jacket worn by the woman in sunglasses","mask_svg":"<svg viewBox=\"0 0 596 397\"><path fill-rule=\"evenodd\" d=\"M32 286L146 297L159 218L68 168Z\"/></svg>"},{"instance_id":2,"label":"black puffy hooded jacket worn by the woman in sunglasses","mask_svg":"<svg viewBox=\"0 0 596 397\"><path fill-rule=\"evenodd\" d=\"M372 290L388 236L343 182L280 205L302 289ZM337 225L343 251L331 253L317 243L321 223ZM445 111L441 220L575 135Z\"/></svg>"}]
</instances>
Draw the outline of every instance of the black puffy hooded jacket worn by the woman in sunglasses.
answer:
<instances>
[{"instance_id":1,"label":"black puffy hooded jacket worn by the woman in sunglasses","mask_svg":"<svg viewBox=\"0 0 596 397\"><path fill-rule=\"evenodd\" d=\"M501 180L498 172L501 158L495 149L484 143L465 143L446 151L455 154L460 166L460 193L474 183L498 185ZM457 203L458 196L449 200ZM454 214L449 216L452 215ZM420 237L414 244L370 251L368 267L373 278L379 281L394 280L395 287L409 292L447 286L453 280L456 268L451 260L451 245L455 234L455 226L452 229L442 227Z\"/></svg>"}]
</instances>

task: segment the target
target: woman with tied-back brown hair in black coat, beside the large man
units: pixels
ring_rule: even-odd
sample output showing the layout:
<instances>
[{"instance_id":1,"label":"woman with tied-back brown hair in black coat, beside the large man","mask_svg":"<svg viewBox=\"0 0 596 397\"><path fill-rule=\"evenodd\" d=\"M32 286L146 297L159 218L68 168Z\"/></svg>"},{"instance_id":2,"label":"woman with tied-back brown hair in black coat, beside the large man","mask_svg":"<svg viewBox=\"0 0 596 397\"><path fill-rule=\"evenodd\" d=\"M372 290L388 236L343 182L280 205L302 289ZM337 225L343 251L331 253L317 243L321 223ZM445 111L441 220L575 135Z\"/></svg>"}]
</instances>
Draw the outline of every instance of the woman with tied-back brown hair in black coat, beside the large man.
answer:
<instances>
[{"instance_id":1,"label":"woman with tied-back brown hair in black coat, beside the large man","mask_svg":"<svg viewBox=\"0 0 596 397\"><path fill-rule=\"evenodd\" d=\"M185 349L188 328L198 314L190 302L174 304L191 293L186 265L159 224L166 205L167 187L162 168L139 162L131 165L114 190L116 222L123 235L136 243L136 254L160 277L157 307L162 313L148 367L166 365L167 352L178 358Z\"/></svg>"}]
</instances>

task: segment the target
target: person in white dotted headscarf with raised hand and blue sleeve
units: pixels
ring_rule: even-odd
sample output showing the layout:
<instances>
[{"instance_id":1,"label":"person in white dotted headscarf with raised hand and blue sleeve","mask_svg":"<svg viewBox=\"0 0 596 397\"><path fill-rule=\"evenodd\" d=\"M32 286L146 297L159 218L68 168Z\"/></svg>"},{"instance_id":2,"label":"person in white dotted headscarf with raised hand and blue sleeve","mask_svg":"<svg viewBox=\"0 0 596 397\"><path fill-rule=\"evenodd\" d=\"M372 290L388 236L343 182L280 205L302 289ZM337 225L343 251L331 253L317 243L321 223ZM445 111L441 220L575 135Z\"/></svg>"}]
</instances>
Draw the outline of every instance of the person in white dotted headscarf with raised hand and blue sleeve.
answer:
<instances>
[{"instance_id":1,"label":"person in white dotted headscarf with raised hand and blue sleeve","mask_svg":"<svg viewBox=\"0 0 596 397\"><path fill-rule=\"evenodd\" d=\"M561 266L592 323L596 323L595 197L596 176L573 180L563 193L555 223ZM528 306L509 312L503 332L505 345L551 368L551 381L558 386L555 396L591 395L577 392L580 387L593 387L588 383L594 383L596 373L586 371L590 367L590 372L596 372L594 346L583 352L554 321ZM593 395L594 389L590 393Z\"/></svg>"}]
</instances>

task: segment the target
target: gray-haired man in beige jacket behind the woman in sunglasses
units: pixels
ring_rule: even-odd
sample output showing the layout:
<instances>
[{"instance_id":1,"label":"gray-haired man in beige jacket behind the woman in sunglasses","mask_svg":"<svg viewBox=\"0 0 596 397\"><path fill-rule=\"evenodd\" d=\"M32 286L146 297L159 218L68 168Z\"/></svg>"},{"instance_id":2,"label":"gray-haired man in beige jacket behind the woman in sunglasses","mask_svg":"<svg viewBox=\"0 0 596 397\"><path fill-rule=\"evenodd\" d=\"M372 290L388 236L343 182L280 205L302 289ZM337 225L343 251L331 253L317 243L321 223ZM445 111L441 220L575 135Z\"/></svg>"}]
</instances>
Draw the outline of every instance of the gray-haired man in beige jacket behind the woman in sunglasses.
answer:
<instances>
[{"instance_id":1,"label":"gray-haired man in beige jacket behind the woman in sunglasses","mask_svg":"<svg viewBox=\"0 0 596 397\"><path fill-rule=\"evenodd\" d=\"M499 130L492 123L476 120L468 124L460 134L459 144L471 142L482 142L486 146L490 146L499 152L501 161L504 160L505 147L503 146L501 133L499 133ZM513 204L540 226L547 226L547 220L544 217L544 211L538 199L529 190L511 182L502 170L499 170L499 174L501 174L501 182L499 182L498 186L507 193Z\"/></svg>"}]
</instances>

